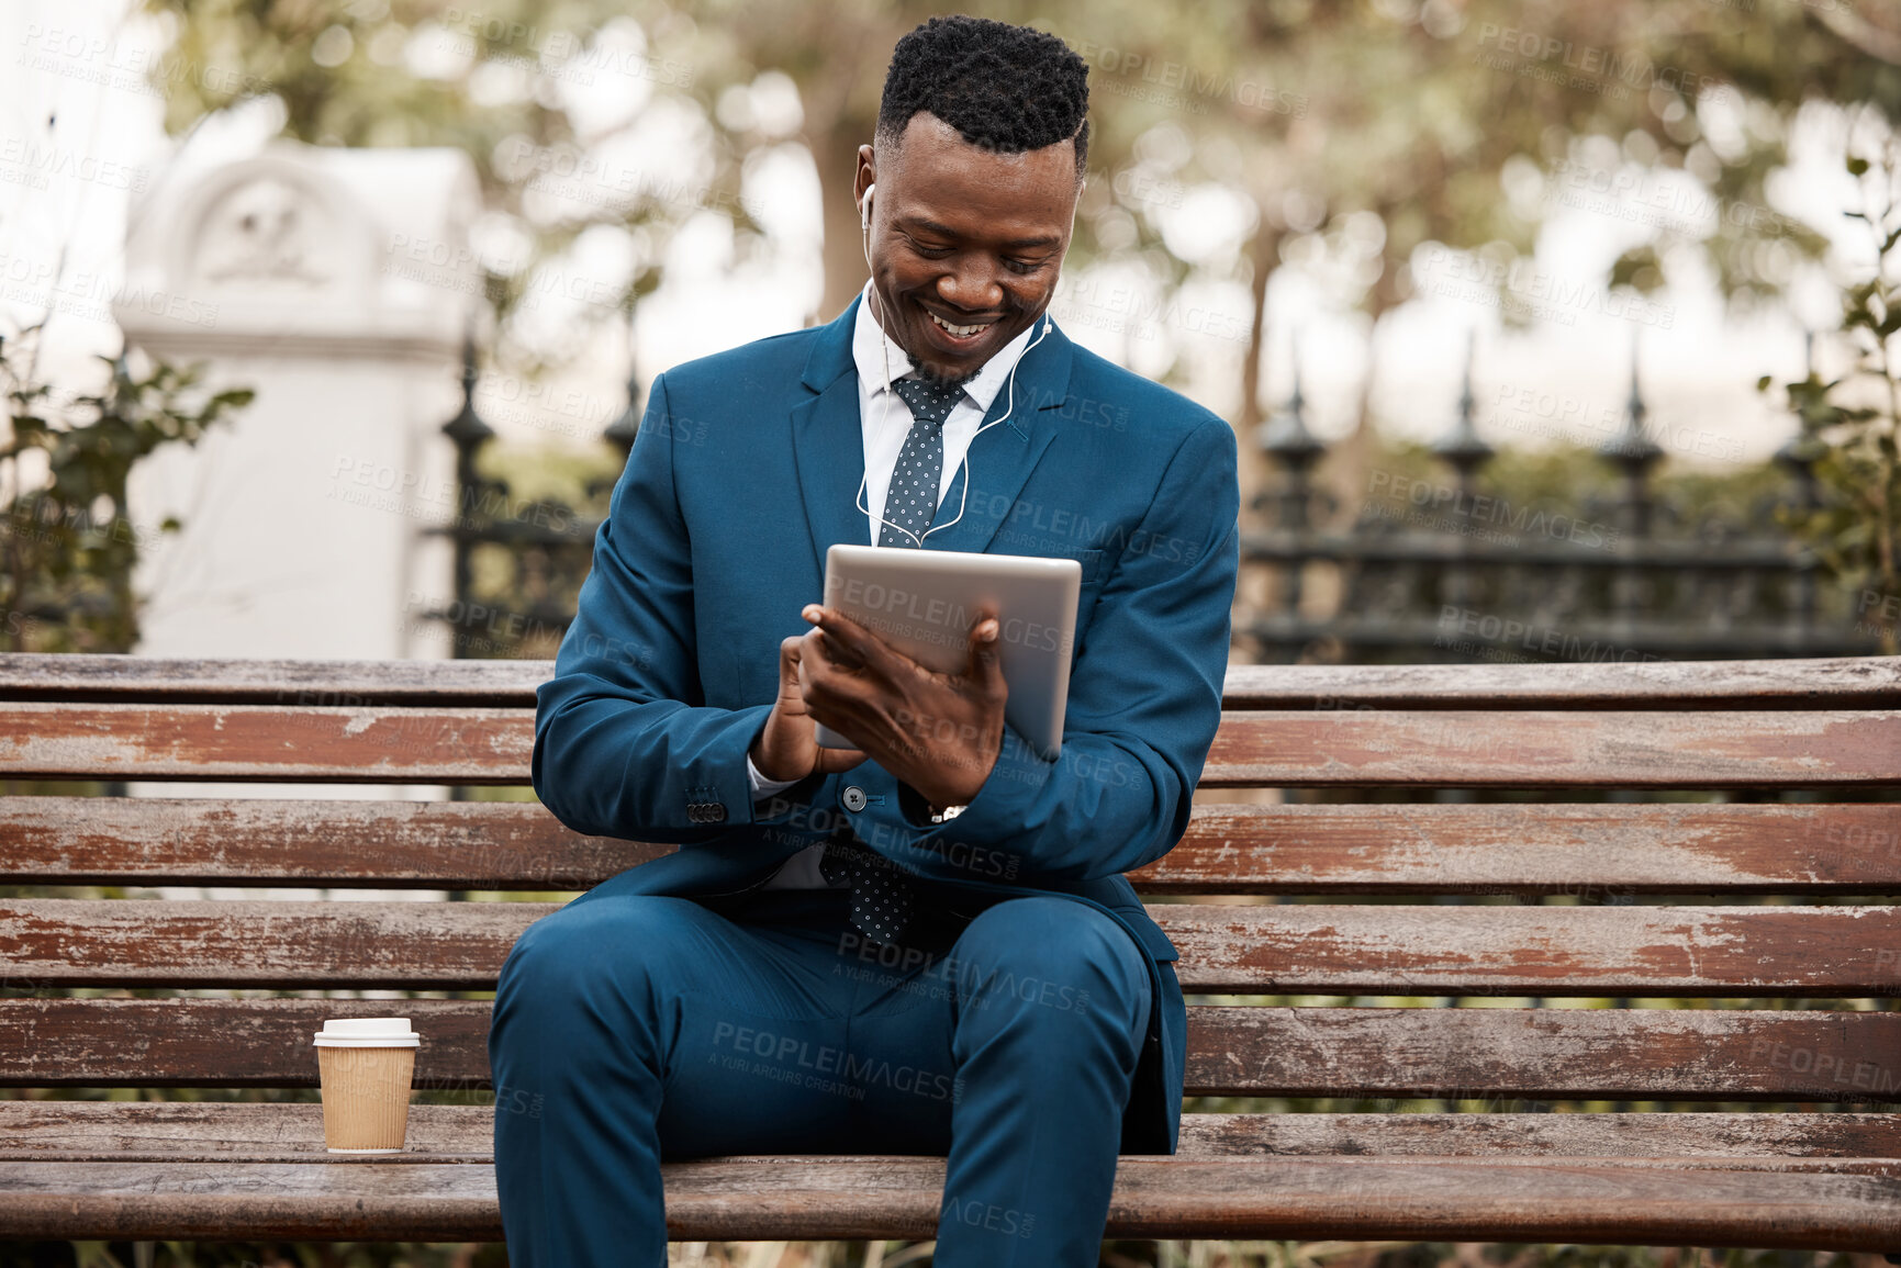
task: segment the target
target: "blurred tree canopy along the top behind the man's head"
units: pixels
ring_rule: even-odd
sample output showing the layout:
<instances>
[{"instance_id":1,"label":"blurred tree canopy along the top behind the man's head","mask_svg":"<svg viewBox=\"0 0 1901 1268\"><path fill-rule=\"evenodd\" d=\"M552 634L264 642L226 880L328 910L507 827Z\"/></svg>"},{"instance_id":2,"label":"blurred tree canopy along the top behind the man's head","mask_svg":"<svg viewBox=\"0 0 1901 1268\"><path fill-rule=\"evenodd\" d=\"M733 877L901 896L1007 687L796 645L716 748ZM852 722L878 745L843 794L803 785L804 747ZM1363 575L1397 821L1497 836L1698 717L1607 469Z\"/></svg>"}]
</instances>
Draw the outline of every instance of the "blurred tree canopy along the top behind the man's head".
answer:
<instances>
[{"instance_id":1,"label":"blurred tree canopy along the top behind the man's head","mask_svg":"<svg viewBox=\"0 0 1901 1268\"><path fill-rule=\"evenodd\" d=\"M228 106L240 86L262 86L283 101L285 133L306 141L473 154L490 207L536 243L490 274L504 314L530 285L527 262L587 224L652 230L620 308L658 283L667 232L700 205L728 211L741 255L755 249L741 173L783 135L745 108L745 89L770 72L798 87L797 135L817 169L825 226L817 316L836 312L863 281L854 152L871 137L892 44L933 11L914 0L494 0L479 11L443 0L144 2L175 15L181 57L241 72L169 86L175 131ZM1652 240L1606 283L1656 289L1682 266L1680 247L1699 245L1724 293L1770 297L1791 260L1819 247L1766 194L1795 110L1872 101L1891 114L1901 101L1901 72L1867 51L1901 34L1827 6L1215 0L1182 13L1139 0L998 0L985 11L1046 25L1091 61L1097 181L1078 264L1139 259L1165 289L1209 274L1241 281L1258 317L1268 276L1291 259L1335 281L1369 335L1416 293L1418 247L1481 249L1509 279L1566 183L1642 192L1646 173L1686 173L1715 215L1650 217ZM601 72L616 76L605 89ZM536 202L551 156L625 137L662 103L688 110L705 141L692 160L703 200L648 188ZM1131 169L1137 179L1123 179ZM1156 179L1243 194L1255 207L1247 249L1173 257L1163 228L1184 209L1156 198ZM1506 314L1525 317L1509 304ZM1243 426L1258 420L1264 333L1260 321L1251 329Z\"/></svg>"}]
</instances>

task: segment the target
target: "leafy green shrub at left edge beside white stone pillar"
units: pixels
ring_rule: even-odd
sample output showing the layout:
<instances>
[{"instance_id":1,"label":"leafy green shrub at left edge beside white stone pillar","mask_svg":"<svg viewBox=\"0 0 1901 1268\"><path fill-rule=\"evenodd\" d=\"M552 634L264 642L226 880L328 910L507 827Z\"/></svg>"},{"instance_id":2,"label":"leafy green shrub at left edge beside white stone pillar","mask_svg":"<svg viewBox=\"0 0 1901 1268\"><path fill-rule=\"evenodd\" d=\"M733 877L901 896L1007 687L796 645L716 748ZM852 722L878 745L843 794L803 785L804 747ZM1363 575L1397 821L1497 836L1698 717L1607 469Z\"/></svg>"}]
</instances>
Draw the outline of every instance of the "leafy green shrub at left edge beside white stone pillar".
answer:
<instances>
[{"instance_id":1,"label":"leafy green shrub at left edge beside white stone pillar","mask_svg":"<svg viewBox=\"0 0 1901 1268\"><path fill-rule=\"evenodd\" d=\"M0 338L0 392L11 435L0 445L0 650L129 652L139 641L131 587L139 553L177 519L139 525L125 513L131 468L162 445L196 445L251 403L249 388L200 392L202 367L101 357L110 380L61 401L34 375L40 327ZM29 454L36 464L25 462ZM44 466L44 481L23 479Z\"/></svg>"}]
</instances>

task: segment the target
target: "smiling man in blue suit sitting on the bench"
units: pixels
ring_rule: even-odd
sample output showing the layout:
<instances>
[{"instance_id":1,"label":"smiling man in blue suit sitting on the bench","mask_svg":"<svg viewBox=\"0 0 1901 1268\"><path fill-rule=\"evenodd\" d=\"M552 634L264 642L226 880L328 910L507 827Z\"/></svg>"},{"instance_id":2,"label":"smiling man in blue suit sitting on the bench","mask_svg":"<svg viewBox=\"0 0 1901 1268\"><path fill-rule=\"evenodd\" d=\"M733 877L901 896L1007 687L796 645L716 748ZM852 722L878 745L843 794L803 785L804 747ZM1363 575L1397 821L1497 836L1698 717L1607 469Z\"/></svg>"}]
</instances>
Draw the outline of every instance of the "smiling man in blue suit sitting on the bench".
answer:
<instances>
[{"instance_id":1,"label":"smiling man in blue suit sitting on the bench","mask_svg":"<svg viewBox=\"0 0 1901 1268\"><path fill-rule=\"evenodd\" d=\"M1236 439L1046 314L1085 108L1053 36L918 27L859 148L865 295L652 386L534 787L681 848L502 968L515 1268L663 1264L662 1160L739 1152L947 1156L937 1268L1084 1268L1116 1156L1175 1150L1177 956L1122 873L1220 717ZM1078 559L1061 757L1004 720L996 614L928 671L814 603L833 542Z\"/></svg>"}]
</instances>

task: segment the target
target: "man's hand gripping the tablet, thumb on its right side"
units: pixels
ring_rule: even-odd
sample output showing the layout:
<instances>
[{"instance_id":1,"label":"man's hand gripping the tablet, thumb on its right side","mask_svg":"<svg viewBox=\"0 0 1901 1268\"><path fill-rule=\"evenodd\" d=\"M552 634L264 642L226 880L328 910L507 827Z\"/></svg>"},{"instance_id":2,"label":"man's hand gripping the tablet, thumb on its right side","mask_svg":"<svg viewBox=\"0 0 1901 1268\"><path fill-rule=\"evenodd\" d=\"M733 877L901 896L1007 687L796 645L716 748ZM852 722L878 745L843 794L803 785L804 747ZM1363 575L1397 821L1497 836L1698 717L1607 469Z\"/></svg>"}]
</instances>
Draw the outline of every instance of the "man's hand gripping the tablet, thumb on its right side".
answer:
<instances>
[{"instance_id":1,"label":"man's hand gripping the tablet, thumb on its right side","mask_svg":"<svg viewBox=\"0 0 1901 1268\"><path fill-rule=\"evenodd\" d=\"M970 802L1004 743L1009 688L998 663L996 612L977 614L958 673L926 669L817 603L802 616L814 629L787 643L798 644L795 671L806 713L852 738L855 760L874 759L931 806Z\"/></svg>"}]
</instances>

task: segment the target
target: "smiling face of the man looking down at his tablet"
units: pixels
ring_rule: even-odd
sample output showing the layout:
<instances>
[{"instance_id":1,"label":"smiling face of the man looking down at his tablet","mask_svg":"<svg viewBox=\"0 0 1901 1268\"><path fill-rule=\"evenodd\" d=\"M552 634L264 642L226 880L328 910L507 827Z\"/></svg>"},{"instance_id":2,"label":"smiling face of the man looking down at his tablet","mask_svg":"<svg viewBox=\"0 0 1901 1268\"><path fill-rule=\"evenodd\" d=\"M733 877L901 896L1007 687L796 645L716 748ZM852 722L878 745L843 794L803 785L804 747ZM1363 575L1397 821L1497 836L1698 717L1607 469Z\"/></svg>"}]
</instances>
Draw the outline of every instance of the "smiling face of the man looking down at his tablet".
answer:
<instances>
[{"instance_id":1,"label":"smiling face of the man looking down at his tablet","mask_svg":"<svg viewBox=\"0 0 1901 1268\"><path fill-rule=\"evenodd\" d=\"M1002 154L920 110L901 144L859 146L873 316L935 378L975 375L1042 316L1076 221L1076 146Z\"/></svg>"}]
</instances>

